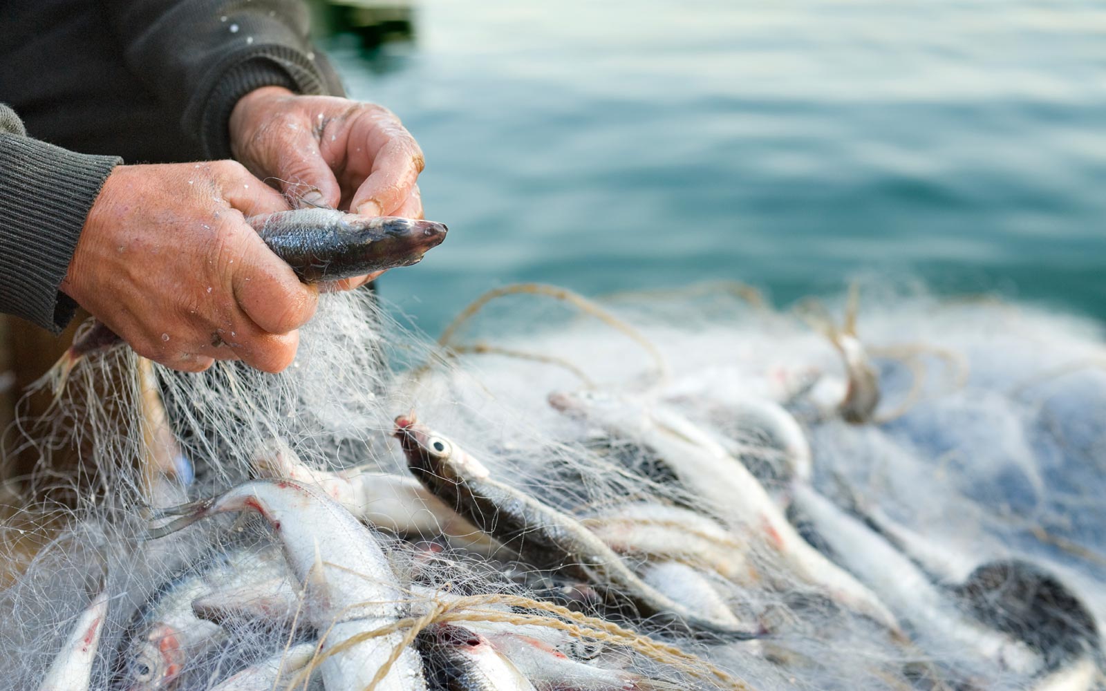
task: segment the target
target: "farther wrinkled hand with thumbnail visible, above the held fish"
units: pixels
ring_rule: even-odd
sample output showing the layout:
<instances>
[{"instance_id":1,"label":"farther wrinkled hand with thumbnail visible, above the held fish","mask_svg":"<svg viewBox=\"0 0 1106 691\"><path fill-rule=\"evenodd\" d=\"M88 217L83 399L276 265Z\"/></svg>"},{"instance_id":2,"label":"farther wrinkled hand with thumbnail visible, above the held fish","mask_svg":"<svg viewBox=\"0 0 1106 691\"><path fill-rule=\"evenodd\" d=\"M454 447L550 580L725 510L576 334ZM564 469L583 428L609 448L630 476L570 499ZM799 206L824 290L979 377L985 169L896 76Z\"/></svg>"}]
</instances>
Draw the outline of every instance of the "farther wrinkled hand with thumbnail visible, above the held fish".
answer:
<instances>
[{"instance_id":1,"label":"farther wrinkled hand with thumbnail visible, above the held fish","mask_svg":"<svg viewBox=\"0 0 1106 691\"><path fill-rule=\"evenodd\" d=\"M422 150L390 111L264 86L230 116L234 158L289 198L364 216L422 218ZM355 287L379 274L341 282Z\"/></svg>"}]
</instances>

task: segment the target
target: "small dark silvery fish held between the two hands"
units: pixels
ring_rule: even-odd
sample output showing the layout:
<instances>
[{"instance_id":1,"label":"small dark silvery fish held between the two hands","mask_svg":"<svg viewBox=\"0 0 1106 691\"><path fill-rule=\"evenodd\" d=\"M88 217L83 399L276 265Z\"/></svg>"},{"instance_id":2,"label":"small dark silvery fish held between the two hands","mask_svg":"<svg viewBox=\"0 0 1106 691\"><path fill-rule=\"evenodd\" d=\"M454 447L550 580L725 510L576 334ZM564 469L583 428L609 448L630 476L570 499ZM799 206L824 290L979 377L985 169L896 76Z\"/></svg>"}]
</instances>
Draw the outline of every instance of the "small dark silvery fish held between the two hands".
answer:
<instances>
[{"instance_id":1,"label":"small dark silvery fish held between the two hands","mask_svg":"<svg viewBox=\"0 0 1106 691\"><path fill-rule=\"evenodd\" d=\"M296 209L246 221L305 283L410 266L441 244L445 223L335 209Z\"/></svg>"}]
</instances>

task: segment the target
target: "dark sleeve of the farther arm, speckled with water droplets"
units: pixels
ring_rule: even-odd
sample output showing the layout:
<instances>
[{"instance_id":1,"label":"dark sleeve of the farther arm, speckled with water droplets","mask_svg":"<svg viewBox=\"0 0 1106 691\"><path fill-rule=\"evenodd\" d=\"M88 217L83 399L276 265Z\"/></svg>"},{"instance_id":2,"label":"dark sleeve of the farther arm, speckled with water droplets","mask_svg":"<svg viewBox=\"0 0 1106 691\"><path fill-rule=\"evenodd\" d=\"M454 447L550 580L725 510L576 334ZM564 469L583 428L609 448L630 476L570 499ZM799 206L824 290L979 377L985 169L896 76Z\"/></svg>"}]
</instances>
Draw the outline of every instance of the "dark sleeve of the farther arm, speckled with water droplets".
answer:
<instances>
[{"instance_id":1,"label":"dark sleeve of the farther arm, speckled with water droplets","mask_svg":"<svg viewBox=\"0 0 1106 691\"><path fill-rule=\"evenodd\" d=\"M107 0L129 70L180 113L209 158L229 158L234 104L261 86L342 94L309 38L303 0Z\"/></svg>"}]
</instances>

